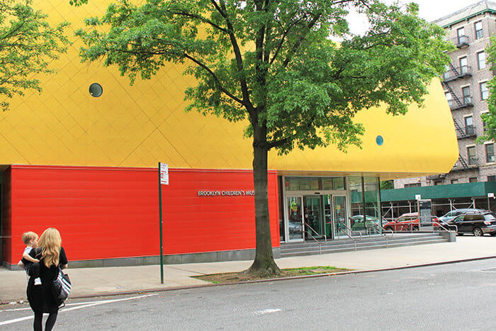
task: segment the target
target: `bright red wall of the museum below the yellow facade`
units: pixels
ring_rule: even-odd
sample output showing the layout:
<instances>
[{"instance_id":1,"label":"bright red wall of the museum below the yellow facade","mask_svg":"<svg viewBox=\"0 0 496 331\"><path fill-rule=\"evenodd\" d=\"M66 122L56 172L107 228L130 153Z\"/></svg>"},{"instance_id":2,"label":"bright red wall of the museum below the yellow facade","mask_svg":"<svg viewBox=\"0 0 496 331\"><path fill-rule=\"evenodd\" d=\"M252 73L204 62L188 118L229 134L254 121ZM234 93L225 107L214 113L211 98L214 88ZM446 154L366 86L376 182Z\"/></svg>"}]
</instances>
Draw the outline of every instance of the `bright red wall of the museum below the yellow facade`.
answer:
<instances>
[{"instance_id":1,"label":"bright red wall of the museum below the yellow facade","mask_svg":"<svg viewBox=\"0 0 496 331\"><path fill-rule=\"evenodd\" d=\"M62 234L71 260L159 254L157 169L100 167L12 167L13 253L21 235L48 227ZM164 254L255 247L254 196L198 196L198 191L252 191L244 170L170 169L162 186ZM271 237L279 246L278 191L269 173ZM7 255L9 257L9 255Z\"/></svg>"}]
</instances>

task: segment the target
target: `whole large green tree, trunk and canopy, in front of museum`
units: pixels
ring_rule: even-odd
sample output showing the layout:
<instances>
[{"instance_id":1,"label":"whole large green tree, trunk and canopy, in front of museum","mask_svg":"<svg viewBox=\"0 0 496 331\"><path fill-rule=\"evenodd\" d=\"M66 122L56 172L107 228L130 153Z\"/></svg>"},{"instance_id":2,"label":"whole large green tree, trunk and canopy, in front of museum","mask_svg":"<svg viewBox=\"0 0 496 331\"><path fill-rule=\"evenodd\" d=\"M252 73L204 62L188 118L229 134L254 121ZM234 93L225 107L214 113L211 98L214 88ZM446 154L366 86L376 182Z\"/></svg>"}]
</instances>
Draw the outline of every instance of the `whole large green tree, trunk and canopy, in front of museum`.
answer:
<instances>
[{"instance_id":1,"label":"whole large green tree, trunk and canopy, in front of museum","mask_svg":"<svg viewBox=\"0 0 496 331\"><path fill-rule=\"evenodd\" d=\"M368 19L364 35L349 31L351 8ZM450 47L444 30L417 14L416 4L379 0L120 0L103 17L87 18L77 35L86 45L82 60L103 57L131 84L168 62L187 64L185 74L197 79L185 91L188 111L246 121L254 147L252 269L270 273L278 269L267 239L267 152L346 150L361 142L358 111L384 104L398 115L422 105Z\"/></svg>"}]
</instances>

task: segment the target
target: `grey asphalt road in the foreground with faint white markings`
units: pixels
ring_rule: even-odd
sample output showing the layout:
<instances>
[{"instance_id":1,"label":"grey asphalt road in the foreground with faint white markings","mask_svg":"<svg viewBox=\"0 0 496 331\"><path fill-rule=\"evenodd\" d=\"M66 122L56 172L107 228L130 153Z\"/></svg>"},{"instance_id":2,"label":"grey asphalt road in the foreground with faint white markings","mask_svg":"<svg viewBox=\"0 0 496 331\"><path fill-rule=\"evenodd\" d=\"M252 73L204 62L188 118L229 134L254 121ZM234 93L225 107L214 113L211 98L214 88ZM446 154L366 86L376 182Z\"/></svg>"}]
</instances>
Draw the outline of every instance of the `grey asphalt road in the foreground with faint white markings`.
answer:
<instances>
[{"instance_id":1,"label":"grey asphalt road in the foreground with faint white markings","mask_svg":"<svg viewBox=\"0 0 496 331\"><path fill-rule=\"evenodd\" d=\"M486 259L72 300L55 330L496 330L495 308L496 259ZM0 330L30 330L31 315L0 307Z\"/></svg>"}]
</instances>

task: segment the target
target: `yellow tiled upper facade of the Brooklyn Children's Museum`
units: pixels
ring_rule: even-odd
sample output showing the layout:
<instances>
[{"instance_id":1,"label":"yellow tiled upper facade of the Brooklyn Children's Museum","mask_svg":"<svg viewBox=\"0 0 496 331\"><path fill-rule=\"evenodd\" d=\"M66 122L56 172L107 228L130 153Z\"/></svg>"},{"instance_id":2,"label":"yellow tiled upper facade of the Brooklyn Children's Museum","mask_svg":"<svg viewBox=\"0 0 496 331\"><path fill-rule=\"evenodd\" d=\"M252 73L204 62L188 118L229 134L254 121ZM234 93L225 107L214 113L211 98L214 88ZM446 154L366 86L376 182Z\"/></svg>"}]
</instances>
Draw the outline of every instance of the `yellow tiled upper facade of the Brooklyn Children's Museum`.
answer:
<instances>
[{"instance_id":1,"label":"yellow tiled upper facade of the Brooklyn Children's Museum","mask_svg":"<svg viewBox=\"0 0 496 331\"><path fill-rule=\"evenodd\" d=\"M51 23L69 21L71 30L84 28L83 18L101 16L106 9L101 1L89 1L80 7L69 6L68 0L35 1L34 5L49 15ZM72 31L69 34L73 44L67 54L51 64L58 73L40 77L43 93L28 91L26 96L11 101L10 111L0 113L4 238L23 231L21 221L11 214L15 194L6 190L14 182L14 175L7 172L16 164L67 169L157 169L157 162L165 162L178 170L252 169L252 142L243 138L246 123L185 113L184 90L195 82L182 74L183 67L170 64L152 79L137 79L130 86L115 67L103 67L98 62L81 63L82 44ZM95 83L103 89L101 96L89 93L89 87ZM279 182L277 220L286 224L278 229L282 241L289 240L290 215L284 214L291 211L289 198L296 196L284 192L295 181L301 184L301 178L309 181L301 184L308 189L298 186L293 190L300 192L299 203L305 203L306 193L301 191L322 189L328 178L334 183L328 188L329 195L334 192L346 196L343 206L351 215L354 207L350 178L359 177L362 183L363 178L373 179L376 185L378 179L449 172L458 159L453 120L438 79L429 86L423 108L410 106L405 116L387 115L385 107L364 109L356 116L356 122L366 128L361 149L349 147L344 153L329 146L295 150L283 156L270 153L269 169ZM312 189L311 181L317 178L320 184ZM338 179L333 181L335 178ZM339 178L343 178L342 186ZM332 205L332 201L328 203ZM300 209L303 211L305 206ZM7 222L11 225L6 226ZM323 232L325 226L321 226ZM4 256L4 261L10 263L11 258Z\"/></svg>"}]
</instances>

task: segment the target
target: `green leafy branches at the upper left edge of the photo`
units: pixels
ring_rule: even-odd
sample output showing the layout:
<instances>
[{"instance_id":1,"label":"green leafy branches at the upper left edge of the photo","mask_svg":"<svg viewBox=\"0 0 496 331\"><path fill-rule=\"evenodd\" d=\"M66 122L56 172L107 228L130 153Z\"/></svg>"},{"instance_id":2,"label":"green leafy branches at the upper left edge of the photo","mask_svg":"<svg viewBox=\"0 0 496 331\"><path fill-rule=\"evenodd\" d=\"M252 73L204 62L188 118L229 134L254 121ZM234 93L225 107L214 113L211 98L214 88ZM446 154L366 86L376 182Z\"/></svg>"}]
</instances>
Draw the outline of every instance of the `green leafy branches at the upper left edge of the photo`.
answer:
<instances>
[{"instance_id":1,"label":"green leafy branches at the upper left edge of the photo","mask_svg":"<svg viewBox=\"0 0 496 331\"><path fill-rule=\"evenodd\" d=\"M69 41L64 28L69 23L50 26L47 15L36 11L32 1L0 0L0 95L1 108L9 109L9 99L26 89L41 91L35 74L52 74L48 64L65 52Z\"/></svg>"}]
</instances>

